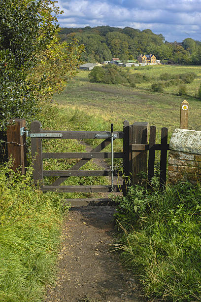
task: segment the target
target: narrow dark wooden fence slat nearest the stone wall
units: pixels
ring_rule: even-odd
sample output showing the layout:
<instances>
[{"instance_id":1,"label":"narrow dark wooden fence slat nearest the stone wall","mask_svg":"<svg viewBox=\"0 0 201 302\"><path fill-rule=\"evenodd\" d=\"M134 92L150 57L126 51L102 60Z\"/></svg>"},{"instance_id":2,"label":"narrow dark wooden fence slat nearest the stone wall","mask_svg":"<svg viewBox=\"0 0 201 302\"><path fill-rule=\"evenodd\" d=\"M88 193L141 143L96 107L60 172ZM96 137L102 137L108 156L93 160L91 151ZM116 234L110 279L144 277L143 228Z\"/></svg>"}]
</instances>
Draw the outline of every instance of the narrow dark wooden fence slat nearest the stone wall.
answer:
<instances>
[{"instance_id":1,"label":"narrow dark wooden fence slat nearest the stone wall","mask_svg":"<svg viewBox=\"0 0 201 302\"><path fill-rule=\"evenodd\" d=\"M160 187L163 188L166 185L166 170L167 170L167 134L168 129L166 127L161 129L161 160L160 160Z\"/></svg>"}]
</instances>

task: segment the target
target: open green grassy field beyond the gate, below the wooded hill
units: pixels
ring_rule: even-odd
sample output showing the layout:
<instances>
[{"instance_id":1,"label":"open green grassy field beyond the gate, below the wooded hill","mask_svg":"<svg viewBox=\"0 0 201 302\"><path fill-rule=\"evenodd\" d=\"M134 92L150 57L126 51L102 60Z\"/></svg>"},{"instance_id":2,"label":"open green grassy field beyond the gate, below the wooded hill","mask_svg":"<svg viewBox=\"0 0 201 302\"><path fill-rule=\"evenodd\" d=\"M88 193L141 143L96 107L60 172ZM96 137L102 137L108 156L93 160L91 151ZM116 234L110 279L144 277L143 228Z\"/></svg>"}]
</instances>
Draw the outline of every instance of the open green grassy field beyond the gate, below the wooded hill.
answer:
<instances>
[{"instance_id":1,"label":"open green grassy field beyond the gate, below the wooded hill","mask_svg":"<svg viewBox=\"0 0 201 302\"><path fill-rule=\"evenodd\" d=\"M148 90L152 83L137 84L136 88L91 83L88 79L89 72L81 71L69 81L60 95L54 96L54 100L64 109L70 107L97 117L97 126L91 125L91 130L109 130L111 122L116 130L121 130L123 121L128 119L130 123L147 121L158 128L167 127L171 133L179 127L180 103L185 98L190 103L189 129L201 129L201 100L194 98L201 81L200 66L149 66L133 72L153 77L162 73L195 72L199 77L187 84L187 95L179 97L176 95L177 86L166 88L165 93L157 93ZM85 122L80 125L80 129L85 127L84 124ZM90 130L89 123L85 130Z\"/></svg>"}]
</instances>

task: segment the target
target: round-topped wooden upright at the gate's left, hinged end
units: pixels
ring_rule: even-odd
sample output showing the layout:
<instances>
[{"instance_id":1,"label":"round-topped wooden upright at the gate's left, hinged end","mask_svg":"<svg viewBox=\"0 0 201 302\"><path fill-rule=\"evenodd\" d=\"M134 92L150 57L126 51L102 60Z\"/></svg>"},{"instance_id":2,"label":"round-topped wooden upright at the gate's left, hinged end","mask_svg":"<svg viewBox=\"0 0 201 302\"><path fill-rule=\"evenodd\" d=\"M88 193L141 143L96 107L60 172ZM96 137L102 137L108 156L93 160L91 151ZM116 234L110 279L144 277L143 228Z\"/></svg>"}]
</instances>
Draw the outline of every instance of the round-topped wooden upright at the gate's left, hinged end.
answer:
<instances>
[{"instance_id":1,"label":"round-topped wooden upright at the gate's left, hinged end","mask_svg":"<svg viewBox=\"0 0 201 302\"><path fill-rule=\"evenodd\" d=\"M33 121L31 123L31 133L40 133L41 123ZM41 138L31 138L32 158L33 158L33 180L39 186L43 185L43 164L42 164L42 140Z\"/></svg>"}]
</instances>

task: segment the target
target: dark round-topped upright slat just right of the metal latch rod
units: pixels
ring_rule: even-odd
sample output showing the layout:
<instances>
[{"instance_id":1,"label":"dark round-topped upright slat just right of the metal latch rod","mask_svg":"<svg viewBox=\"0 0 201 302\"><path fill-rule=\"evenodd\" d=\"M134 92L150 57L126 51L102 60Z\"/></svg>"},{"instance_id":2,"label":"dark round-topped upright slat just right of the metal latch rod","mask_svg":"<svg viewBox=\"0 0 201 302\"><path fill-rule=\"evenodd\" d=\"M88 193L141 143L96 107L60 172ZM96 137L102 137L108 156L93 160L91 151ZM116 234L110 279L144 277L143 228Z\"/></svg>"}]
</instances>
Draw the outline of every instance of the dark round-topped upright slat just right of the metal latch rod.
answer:
<instances>
[{"instance_id":1,"label":"dark round-topped upright slat just right of the metal latch rod","mask_svg":"<svg viewBox=\"0 0 201 302\"><path fill-rule=\"evenodd\" d=\"M131 152L131 126L129 124L128 120L124 121L124 140L123 140L123 169L124 169L124 175L123 178L123 194L126 194L127 191L127 181L128 177L131 176L131 165L132 165L132 152Z\"/></svg>"}]
</instances>

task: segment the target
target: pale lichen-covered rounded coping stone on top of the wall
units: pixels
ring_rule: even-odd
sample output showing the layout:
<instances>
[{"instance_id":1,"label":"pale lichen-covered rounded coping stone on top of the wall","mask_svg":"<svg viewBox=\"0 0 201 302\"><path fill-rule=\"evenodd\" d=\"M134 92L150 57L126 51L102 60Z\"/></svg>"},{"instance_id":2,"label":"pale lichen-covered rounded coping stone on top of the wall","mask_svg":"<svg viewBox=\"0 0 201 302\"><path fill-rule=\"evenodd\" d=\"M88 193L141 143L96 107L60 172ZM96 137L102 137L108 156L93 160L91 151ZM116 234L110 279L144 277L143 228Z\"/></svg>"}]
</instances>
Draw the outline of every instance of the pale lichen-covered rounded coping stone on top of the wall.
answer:
<instances>
[{"instance_id":1,"label":"pale lichen-covered rounded coping stone on top of the wall","mask_svg":"<svg viewBox=\"0 0 201 302\"><path fill-rule=\"evenodd\" d=\"M175 129L169 142L169 149L201 154L201 131Z\"/></svg>"}]
</instances>

